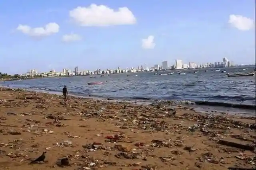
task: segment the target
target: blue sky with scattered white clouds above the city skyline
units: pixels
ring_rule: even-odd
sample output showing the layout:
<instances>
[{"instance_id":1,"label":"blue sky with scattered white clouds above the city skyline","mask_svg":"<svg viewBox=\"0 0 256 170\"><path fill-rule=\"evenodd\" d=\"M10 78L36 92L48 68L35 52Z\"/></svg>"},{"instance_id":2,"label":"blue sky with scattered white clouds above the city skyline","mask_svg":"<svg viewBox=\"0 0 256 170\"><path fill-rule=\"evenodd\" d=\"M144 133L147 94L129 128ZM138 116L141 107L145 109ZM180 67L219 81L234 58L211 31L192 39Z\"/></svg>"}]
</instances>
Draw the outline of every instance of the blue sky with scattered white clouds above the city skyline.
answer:
<instances>
[{"instance_id":1,"label":"blue sky with scattered white clouds above the city skyline","mask_svg":"<svg viewBox=\"0 0 256 170\"><path fill-rule=\"evenodd\" d=\"M255 63L255 0L0 2L0 72Z\"/></svg>"}]
</instances>

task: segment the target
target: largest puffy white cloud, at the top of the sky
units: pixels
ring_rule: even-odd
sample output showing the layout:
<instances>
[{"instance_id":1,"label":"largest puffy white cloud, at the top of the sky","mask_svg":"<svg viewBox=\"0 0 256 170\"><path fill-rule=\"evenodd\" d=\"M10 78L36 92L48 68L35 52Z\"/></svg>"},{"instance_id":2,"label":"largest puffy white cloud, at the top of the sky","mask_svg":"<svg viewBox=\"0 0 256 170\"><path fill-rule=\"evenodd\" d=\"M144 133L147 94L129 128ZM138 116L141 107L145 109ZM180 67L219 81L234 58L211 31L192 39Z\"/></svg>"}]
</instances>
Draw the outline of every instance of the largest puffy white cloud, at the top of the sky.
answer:
<instances>
[{"instance_id":1,"label":"largest puffy white cloud, at the top of the sky","mask_svg":"<svg viewBox=\"0 0 256 170\"><path fill-rule=\"evenodd\" d=\"M115 11L104 5L78 6L69 12L69 16L80 26L132 25L136 23L135 16L127 7Z\"/></svg>"}]
</instances>

